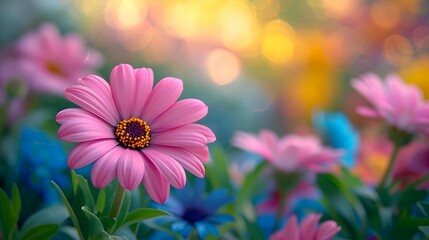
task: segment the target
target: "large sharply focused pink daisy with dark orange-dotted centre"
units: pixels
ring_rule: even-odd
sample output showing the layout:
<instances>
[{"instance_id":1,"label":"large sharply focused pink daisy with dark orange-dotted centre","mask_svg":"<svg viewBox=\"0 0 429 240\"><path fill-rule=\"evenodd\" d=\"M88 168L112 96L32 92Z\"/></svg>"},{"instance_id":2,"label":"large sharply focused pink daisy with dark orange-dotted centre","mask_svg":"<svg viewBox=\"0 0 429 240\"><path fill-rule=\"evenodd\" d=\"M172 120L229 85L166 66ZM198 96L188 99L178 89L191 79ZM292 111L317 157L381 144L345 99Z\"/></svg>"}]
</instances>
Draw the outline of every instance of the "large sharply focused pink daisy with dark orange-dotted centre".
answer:
<instances>
[{"instance_id":1,"label":"large sharply focused pink daisy with dark orange-dotted centre","mask_svg":"<svg viewBox=\"0 0 429 240\"><path fill-rule=\"evenodd\" d=\"M70 168L95 162L94 186L105 187L116 177L127 190L143 182L150 197L162 203L170 184L186 184L183 168L204 177L207 143L216 138L209 128L194 123L207 114L203 102L177 101L181 80L164 78L155 87L153 81L151 69L127 64L112 70L110 85L95 75L80 79L64 95L81 108L58 113L58 136L79 143L68 157Z\"/></svg>"}]
</instances>

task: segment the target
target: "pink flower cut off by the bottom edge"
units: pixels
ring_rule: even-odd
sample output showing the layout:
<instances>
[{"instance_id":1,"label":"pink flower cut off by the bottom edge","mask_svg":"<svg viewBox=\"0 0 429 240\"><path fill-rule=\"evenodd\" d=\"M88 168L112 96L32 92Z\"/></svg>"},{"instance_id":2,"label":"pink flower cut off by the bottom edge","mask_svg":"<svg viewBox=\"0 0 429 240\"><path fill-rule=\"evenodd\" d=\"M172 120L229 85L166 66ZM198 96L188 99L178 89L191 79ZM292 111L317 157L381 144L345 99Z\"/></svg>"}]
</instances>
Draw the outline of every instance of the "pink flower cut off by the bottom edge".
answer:
<instances>
[{"instance_id":1,"label":"pink flower cut off by the bottom edge","mask_svg":"<svg viewBox=\"0 0 429 240\"><path fill-rule=\"evenodd\" d=\"M321 214L309 214L298 226L296 216L292 215L285 227L271 235L270 240L330 240L341 227L332 220L317 225L321 217Z\"/></svg>"}]
</instances>

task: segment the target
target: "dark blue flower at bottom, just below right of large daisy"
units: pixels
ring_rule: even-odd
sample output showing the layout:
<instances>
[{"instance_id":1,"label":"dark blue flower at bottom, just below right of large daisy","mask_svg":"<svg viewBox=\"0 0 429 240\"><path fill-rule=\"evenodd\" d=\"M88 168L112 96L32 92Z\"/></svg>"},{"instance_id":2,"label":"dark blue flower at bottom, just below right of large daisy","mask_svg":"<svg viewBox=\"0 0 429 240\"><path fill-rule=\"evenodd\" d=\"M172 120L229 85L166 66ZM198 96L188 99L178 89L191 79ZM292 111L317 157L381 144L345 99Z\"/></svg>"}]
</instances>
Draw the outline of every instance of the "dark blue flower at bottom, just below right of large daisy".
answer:
<instances>
[{"instance_id":1,"label":"dark blue flower at bottom, just below right of large daisy","mask_svg":"<svg viewBox=\"0 0 429 240\"><path fill-rule=\"evenodd\" d=\"M187 238L193 229L201 239L210 233L218 236L216 226L233 221L227 214L217 213L217 210L232 201L232 197L224 189L217 189L205 196L205 182L195 179L194 187L187 184L185 188L175 191L165 204L155 203L155 207L170 212L173 217L164 218L171 222L171 229Z\"/></svg>"}]
</instances>

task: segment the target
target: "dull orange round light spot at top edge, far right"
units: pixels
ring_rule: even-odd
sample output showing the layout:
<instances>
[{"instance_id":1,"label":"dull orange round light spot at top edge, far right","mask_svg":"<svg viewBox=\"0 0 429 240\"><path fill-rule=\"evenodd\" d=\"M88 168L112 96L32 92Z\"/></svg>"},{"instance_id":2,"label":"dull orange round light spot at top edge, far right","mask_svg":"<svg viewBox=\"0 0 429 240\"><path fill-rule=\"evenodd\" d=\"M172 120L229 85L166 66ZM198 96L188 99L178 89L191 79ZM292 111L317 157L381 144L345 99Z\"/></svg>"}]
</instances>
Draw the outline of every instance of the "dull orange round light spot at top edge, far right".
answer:
<instances>
[{"instance_id":1,"label":"dull orange round light spot at top edge, far right","mask_svg":"<svg viewBox=\"0 0 429 240\"><path fill-rule=\"evenodd\" d=\"M379 0L370 8L372 21L381 28L393 28L401 21L401 9L394 1Z\"/></svg>"}]
</instances>

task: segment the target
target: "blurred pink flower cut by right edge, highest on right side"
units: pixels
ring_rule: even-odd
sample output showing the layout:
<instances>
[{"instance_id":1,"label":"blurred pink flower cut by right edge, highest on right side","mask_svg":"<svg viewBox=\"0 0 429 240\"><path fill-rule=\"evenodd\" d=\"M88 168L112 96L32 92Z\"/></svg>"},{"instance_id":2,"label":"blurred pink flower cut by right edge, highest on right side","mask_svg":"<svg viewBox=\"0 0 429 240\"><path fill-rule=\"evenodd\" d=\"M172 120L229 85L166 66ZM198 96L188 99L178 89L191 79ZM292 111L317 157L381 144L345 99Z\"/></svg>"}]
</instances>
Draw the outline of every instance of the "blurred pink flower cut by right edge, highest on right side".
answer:
<instances>
[{"instance_id":1,"label":"blurred pink flower cut by right edge, highest on right side","mask_svg":"<svg viewBox=\"0 0 429 240\"><path fill-rule=\"evenodd\" d=\"M406 132L429 134L429 102L416 86L403 83L395 75L387 76L383 83L372 73L353 80L352 86L372 105L358 107L359 114L384 119Z\"/></svg>"}]
</instances>

